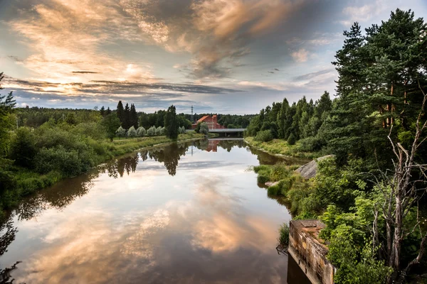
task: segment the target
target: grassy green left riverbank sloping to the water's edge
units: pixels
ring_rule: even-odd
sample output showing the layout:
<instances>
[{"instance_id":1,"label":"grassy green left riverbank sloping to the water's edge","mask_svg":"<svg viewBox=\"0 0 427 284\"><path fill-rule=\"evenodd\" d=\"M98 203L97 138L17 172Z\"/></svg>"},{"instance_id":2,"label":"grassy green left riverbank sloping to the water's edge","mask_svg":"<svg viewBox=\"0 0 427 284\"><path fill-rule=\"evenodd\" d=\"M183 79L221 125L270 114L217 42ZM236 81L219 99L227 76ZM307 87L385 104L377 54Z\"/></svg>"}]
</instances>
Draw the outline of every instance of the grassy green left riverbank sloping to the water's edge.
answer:
<instances>
[{"instance_id":1,"label":"grassy green left riverbank sloping to the water's edge","mask_svg":"<svg viewBox=\"0 0 427 284\"><path fill-rule=\"evenodd\" d=\"M209 137L215 137L215 134L210 133ZM204 135L199 133L184 133L180 134L176 141L192 141L203 139ZM105 163L107 160L115 158L132 151L137 151L144 148L166 145L175 142L166 136L152 136L143 138L127 138L115 139L113 142L102 142L99 144L99 151L97 151L94 160L94 166ZM80 173L78 173L80 174ZM56 182L68 178L63 175L59 170L51 170L49 173L40 174L35 170L28 170L27 168L16 167L14 170L14 183L15 190L9 190L4 199L1 200L2 207L0 207L0 217L4 214L4 209L11 209L16 207L20 200L26 195L31 195L37 190L49 187Z\"/></svg>"}]
</instances>

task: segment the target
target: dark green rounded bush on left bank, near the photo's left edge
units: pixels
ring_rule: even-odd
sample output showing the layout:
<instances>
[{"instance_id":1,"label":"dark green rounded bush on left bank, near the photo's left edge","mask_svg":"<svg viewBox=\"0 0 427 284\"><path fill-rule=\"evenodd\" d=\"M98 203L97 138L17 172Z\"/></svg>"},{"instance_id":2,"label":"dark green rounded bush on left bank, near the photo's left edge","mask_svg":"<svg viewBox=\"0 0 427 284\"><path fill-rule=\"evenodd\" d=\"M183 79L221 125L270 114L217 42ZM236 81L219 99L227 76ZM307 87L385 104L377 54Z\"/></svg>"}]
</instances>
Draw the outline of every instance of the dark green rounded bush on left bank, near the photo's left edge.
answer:
<instances>
[{"instance_id":1,"label":"dark green rounded bush on left bank, near the photo's left edge","mask_svg":"<svg viewBox=\"0 0 427 284\"><path fill-rule=\"evenodd\" d=\"M36 140L30 129L21 127L11 141L10 156L16 165L26 168L33 167L33 158L37 153Z\"/></svg>"}]
</instances>

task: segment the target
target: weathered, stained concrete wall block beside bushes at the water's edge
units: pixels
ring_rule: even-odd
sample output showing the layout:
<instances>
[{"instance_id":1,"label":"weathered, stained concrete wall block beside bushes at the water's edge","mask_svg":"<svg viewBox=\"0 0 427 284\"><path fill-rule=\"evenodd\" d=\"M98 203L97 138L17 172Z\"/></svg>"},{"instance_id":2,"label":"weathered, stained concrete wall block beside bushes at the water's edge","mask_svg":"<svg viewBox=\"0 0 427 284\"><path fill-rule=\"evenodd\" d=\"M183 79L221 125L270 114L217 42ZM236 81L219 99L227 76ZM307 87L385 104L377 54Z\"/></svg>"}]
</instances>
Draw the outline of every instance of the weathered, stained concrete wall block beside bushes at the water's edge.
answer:
<instances>
[{"instance_id":1,"label":"weathered, stained concrete wall block beside bushes at the water's edge","mask_svg":"<svg viewBox=\"0 0 427 284\"><path fill-rule=\"evenodd\" d=\"M335 268L326 259L327 246L319 238L325 224L319 220L292 220L289 225L290 256L313 284L333 284Z\"/></svg>"}]
</instances>

